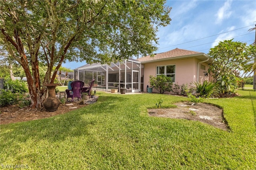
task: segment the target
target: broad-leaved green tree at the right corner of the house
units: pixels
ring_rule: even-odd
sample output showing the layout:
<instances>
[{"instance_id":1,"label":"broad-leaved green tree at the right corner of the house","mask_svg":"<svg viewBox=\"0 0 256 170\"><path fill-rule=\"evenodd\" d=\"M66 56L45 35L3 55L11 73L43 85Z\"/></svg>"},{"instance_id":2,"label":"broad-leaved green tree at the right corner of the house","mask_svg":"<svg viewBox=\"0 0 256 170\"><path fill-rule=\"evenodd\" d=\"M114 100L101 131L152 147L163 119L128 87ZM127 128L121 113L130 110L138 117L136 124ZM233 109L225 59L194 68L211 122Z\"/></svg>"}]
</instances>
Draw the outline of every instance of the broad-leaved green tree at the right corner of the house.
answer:
<instances>
[{"instance_id":1,"label":"broad-leaved green tree at the right corner of the house","mask_svg":"<svg viewBox=\"0 0 256 170\"><path fill-rule=\"evenodd\" d=\"M256 45L246 46L246 43L234 42L233 39L224 40L211 48L208 55L213 62L206 74L212 74L222 93L230 93L236 89L240 73L252 71Z\"/></svg>"}]
</instances>

